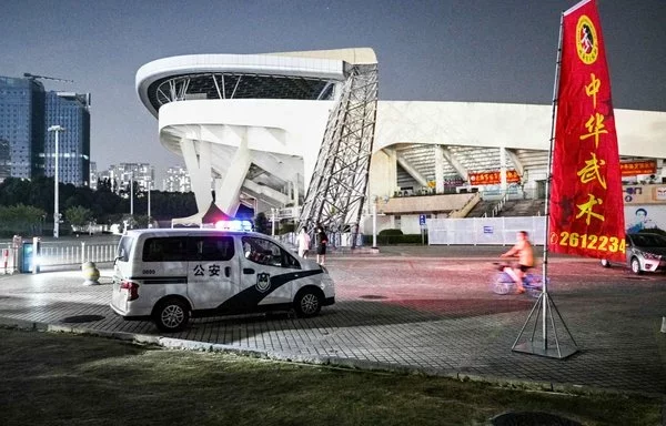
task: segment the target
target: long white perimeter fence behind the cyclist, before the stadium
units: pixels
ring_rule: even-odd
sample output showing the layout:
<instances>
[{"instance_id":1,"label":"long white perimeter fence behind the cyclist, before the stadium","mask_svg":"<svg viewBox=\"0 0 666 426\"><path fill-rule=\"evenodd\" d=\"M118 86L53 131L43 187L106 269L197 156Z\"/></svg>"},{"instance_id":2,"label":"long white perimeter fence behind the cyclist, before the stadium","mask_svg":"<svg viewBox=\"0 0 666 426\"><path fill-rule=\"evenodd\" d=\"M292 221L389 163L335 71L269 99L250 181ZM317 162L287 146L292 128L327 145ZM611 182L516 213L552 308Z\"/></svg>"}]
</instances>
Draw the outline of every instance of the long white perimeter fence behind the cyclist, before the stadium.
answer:
<instances>
[{"instance_id":1,"label":"long white perimeter fence behind the cyclist, before the stadium","mask_svg":"<svg viewBox=\"0 0 666 426\"><path fill-rule=\"evenodd\" d=\"M546 216L428 219L426 225L430 245L513 245L518 231L543 245Z\"/></svg>"}]
</instances>

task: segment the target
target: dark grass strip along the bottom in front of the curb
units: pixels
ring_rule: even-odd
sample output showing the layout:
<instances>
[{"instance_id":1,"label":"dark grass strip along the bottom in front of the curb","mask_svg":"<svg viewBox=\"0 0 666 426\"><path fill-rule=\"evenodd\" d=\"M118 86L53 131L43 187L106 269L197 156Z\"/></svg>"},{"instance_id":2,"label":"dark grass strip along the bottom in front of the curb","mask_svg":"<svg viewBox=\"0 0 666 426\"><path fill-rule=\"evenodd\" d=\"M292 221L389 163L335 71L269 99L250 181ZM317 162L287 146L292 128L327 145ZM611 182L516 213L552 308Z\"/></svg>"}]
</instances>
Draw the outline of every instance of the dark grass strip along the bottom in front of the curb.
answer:
<instances>
[{"instance_id":1,"label":"dark grass strip along the bottom in front of the curb","mask_svg":"<svg viewBox=\"0 0 666 426\"><path fill-rule=\"evenodd\" d=\"M545 412L660 425L659 398L556 394L0 328L0 424L481 425Z\"/></svg>"}]
</instances>

